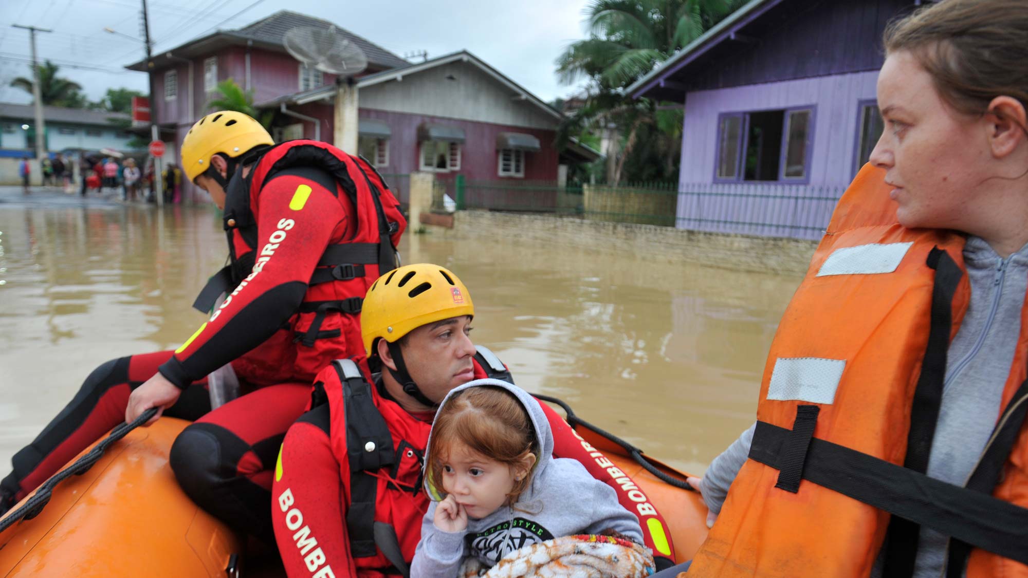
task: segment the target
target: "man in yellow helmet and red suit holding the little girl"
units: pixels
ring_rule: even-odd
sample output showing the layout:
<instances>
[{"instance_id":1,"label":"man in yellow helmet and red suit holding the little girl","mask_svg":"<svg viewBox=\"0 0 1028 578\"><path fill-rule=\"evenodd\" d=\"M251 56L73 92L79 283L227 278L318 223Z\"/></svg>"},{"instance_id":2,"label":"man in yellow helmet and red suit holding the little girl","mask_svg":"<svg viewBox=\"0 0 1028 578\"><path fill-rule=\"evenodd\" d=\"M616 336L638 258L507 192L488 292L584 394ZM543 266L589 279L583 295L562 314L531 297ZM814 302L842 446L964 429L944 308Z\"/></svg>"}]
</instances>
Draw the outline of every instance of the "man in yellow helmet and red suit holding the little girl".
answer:
<instances>
[{"instance_id":1,"label":"man in yellow helmet and red suit holding the little girl","mask_svg":"<svg viewBox=\"0 0 1028 578\"><path fill-rule=\"evenodd\" d=\"M381 373L369 376L363 359L323 370L315 406L287 432L276 467L272 523L290 576L407 574L429 507L421 468L436 405L473 378L511 382L497 356L468 337L474 313L461 280L438 265L406 265L372 284L362 334L369 364ZM580 460L617 490L660 567L671 566L656 509L637 501L633 484L615 481L624 474L597 465L602 455L543 407L554 455Z\"/></svg>"}]
</instances>

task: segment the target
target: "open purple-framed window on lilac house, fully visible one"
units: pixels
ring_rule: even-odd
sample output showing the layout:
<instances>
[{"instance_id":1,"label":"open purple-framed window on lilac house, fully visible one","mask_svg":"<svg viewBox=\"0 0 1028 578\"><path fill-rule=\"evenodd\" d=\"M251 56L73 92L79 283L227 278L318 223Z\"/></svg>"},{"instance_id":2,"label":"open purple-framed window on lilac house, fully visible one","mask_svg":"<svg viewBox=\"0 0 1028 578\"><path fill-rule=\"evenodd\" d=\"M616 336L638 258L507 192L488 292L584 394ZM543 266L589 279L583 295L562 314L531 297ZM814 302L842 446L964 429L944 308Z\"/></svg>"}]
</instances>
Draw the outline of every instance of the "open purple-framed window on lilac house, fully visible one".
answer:
<instances>
[{"instance_id":1,"label":"open purple-framed window on lilac house, fully visible one","mask_svg":"<svg viewBox=\"0 0 1028 578\"><path fill-rule=\"evenodd\" d=\"M809 182L814 109L721 114L714 182Z\"/></svg>"}]
</instances>

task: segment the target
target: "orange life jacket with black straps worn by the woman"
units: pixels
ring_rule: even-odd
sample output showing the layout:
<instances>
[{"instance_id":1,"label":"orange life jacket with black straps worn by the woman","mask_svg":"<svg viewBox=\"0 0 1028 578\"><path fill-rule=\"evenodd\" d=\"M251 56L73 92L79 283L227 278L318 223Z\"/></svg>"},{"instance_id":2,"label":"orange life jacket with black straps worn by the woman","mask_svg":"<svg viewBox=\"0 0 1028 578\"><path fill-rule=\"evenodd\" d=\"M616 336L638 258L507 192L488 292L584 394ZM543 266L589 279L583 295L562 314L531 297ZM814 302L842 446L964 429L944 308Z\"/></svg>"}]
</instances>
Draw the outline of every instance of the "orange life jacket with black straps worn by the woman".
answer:
<instances>
[{"instance_id":1,"label":"orange life jacket with black straps worn by the woman","mask_svg":"<svg viewBox=\"0 0 1028 578\"><path fill-rule=\"evenodd\" d=\"M904 540L923 525L952 537L949 576L969 558L971 578L1028 577L1028 306L975 472L964 487L925 476L970 293L964 238L903 227L888 189L869 165L839 202L771 345L749 459L689 576L868 576L883 547L887 569L912 569Z\"/></svg>"}]
</instances>

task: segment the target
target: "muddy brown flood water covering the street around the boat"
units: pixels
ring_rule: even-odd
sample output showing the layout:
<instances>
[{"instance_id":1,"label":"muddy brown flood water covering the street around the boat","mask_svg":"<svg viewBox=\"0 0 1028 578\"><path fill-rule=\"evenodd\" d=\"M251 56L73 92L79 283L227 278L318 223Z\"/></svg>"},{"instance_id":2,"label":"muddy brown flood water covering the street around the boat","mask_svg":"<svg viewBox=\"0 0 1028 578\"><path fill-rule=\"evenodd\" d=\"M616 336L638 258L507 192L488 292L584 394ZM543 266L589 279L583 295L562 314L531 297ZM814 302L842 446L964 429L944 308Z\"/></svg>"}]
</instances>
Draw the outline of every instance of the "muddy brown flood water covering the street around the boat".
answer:
<instances>
[{"instance_id":1,"label":"muddy brown flood water covering the street around the boat","mask_svg":"<svg viewBox=\"0 0 1028 578\"><path fill-rule=\"evenodd\" d=\"M192 334L225 259L211 207L67 201L0 194L0 476L97 365ZM491 237L407 236L401 252L462 278L475 342L520 386L696 474L755 419L800 282Z\"/></svg>"}]
</instances>

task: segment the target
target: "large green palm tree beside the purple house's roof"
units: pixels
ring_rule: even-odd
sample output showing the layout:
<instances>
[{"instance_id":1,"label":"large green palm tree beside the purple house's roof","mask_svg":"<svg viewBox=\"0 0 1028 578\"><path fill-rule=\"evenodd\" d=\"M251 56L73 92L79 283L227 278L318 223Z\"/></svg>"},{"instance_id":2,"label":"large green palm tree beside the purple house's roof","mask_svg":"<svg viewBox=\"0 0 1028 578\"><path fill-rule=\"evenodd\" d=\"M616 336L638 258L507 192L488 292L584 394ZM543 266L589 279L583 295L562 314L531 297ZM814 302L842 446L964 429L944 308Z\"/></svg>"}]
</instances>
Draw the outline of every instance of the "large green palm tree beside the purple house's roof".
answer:
<instances>
[{"instance_id":1,"label":"large green palm tree beside the purple house's roof","mask_svg":"<svg viewBox=\"0 0 1028 578\"><path fill-rule=\"evenodd\" d=\"M589 98L561 124L558 141L584 131L619 128L622 153L608 158L608 180L618 182L644 125L658 134L675 125L681 132L682 127L681 110L657 110L656 103L633 100L624 89L740 4L742 0L592 0L585 9L590 37L571 44L556 61L563 83L589 79ZM676 136L671 131L669 136ZM661 162L668 172L681 146L673 140Z\"/></svg>"}]
</instances>

